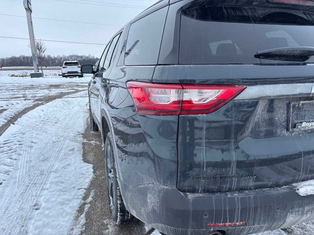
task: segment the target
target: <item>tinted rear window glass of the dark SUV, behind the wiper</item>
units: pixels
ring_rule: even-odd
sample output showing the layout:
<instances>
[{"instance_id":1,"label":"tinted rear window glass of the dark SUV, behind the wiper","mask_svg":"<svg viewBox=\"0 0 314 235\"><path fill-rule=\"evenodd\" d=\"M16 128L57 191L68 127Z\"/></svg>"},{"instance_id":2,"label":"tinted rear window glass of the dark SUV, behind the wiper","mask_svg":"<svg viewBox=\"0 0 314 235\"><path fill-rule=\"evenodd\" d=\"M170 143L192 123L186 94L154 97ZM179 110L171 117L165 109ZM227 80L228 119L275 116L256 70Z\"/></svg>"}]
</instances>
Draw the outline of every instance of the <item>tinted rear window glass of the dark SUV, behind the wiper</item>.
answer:
<instances>
[{"instance_id":1,"label":"tinted rear window glass of the dark SUV, behind the wiper","mask_svg":"<svg viewBox=\"0 0 314 235\"><path fill-rule=\"evenodd\" d=\"M287 9L197 7L181 14L180 64L313 63L304 56L256 56L314 47L314 14Z\"/></svg>"}]
</instances>

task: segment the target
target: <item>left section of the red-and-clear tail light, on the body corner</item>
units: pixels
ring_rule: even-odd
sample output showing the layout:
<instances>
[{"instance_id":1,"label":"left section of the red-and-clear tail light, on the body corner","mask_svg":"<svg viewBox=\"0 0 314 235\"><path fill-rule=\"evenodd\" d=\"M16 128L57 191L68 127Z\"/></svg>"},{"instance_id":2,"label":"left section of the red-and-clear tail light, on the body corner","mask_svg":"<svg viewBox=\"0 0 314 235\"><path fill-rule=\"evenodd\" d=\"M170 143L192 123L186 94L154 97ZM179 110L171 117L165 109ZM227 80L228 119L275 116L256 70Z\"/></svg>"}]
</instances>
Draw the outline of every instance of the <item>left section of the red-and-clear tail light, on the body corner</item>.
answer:
<instances>
[{"instance_id":1,"label":"left section of the red-and-clear tail light, on the body corner","mask_svg":"<svg viewBox=\"0 0 314 235\"><path fill-rule=\"evenodd\" d=\"M138 114L179 115L182 86L131 81L127 88Z\"/></svg>"}]
</instances>

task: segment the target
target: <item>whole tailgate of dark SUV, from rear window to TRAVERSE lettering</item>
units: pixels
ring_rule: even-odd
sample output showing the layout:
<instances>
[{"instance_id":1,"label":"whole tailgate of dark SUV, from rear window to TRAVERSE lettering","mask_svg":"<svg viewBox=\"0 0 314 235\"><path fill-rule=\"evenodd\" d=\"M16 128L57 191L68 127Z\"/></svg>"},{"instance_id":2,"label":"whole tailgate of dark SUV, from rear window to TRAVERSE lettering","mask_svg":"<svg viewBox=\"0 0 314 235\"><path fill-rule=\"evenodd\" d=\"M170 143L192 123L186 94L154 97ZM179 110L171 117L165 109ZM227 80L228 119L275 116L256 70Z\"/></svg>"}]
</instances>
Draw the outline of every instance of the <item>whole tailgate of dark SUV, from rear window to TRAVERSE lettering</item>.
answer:
<instances>
[{"instance_id":1,"label":"whole tailgate of dark SUV, from rear window to TRAVERSE lettering","mask_svg":"<svg viewBox=\"0 0 314 235\"><path fill-rule=\"evenodd\" d=\"M178 189L313 179L314 3L201 2L181 13L180 65L155 73L167 82L247 88L215 112L179 116ZM197 102L203 93L196 91Z\"/></svg>"}]
</instances>

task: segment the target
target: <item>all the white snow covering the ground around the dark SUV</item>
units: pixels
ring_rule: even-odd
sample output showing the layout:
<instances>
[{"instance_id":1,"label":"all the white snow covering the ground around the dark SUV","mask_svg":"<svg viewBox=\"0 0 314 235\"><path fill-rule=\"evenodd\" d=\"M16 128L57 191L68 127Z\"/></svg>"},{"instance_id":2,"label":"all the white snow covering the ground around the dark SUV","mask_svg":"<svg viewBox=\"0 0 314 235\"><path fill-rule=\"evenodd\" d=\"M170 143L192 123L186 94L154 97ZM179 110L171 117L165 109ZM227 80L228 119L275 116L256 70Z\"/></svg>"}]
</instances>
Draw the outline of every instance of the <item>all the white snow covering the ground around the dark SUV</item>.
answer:
<instances>
[{"instance_id":1,"label":"all the white snow covering the ground around the dark SUV","mask_svg":"<svg viewBox=\"0 0 314 235\"><path fill-rule=\"evenodd\" d=\"M82 155L83 133L90 131L90 76L62 78L57 70L44 71L44 78L11 76L27 72L0 71L0 234L80 234L94 200L94 191L83 200L95 177ZM84 213L78 215L83 203ZM107 223L98 234L118 234L116 225ZM313 231L312 221L258 235ZM140 234L160 235L147 225Z\"/></svg>"}]
</instances>

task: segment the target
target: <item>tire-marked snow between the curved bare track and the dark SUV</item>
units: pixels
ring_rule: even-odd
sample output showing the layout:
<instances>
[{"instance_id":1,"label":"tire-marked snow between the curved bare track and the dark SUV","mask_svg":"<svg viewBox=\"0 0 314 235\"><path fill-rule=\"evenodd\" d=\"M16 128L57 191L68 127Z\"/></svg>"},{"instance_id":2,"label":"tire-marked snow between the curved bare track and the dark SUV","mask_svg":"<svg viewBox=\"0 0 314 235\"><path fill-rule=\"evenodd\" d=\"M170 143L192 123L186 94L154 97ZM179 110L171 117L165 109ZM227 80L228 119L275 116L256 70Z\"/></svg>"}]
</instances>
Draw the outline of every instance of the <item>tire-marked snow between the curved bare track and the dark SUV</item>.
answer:
<instances>
[{"instance_id":1,"label":"tire-marked snow between the curved bare track and the dark SUV","mask_svg":"<svg viewBox=\"0 0 314 235\"><path fill-rule=\"evenodd\" d=\"M0 137L1 234L68 234L92 165L82 160L87 98L28 112Z\"/></svg>"}]
</instances>

